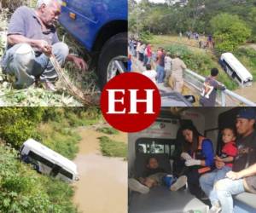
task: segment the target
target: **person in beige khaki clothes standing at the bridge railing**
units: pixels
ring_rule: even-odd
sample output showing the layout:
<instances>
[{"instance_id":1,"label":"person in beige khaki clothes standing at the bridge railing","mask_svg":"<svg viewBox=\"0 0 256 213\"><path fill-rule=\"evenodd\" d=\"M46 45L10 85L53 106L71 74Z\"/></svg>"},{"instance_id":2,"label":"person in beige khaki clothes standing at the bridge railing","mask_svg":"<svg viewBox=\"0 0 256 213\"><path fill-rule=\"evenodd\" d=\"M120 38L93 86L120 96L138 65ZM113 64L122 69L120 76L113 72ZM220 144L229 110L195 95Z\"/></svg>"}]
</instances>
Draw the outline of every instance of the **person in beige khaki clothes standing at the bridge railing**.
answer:
<instances>
[{"instance_id":1,"label":"person in beige khaki clothes standing at the bridge railing","mask_svg":"<svg viewBox=\"0 0 256 213\"><path fill-rule=\"evenodd\" d=\"M172 54L172 74L169 78L169 83L173 85L173 90L182 93L183 90L183 70L187 69L187 66L178 57L178 54Z\"/></svg>"}]
</instances>

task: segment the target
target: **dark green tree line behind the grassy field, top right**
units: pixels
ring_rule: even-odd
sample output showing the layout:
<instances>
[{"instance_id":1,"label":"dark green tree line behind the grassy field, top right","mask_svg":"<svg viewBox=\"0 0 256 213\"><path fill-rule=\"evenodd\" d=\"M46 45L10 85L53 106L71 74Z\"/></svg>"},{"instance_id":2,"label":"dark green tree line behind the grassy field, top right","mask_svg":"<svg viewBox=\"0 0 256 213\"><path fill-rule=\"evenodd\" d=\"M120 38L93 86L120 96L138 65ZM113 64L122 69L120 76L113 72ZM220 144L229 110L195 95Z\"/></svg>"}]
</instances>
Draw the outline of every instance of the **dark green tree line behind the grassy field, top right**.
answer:
<instances>
[{"instance_id":1,"label":"dark green tree line behind the grassy field, top right","mask_svg":"<svg viewBox=\"0 0 256 213\"><path fill-rule=\"evenodd\" d=\"M248 40L255 41L256 3L254 0L189 0L185 5L173 3L172 0L165 2L152 3L142 0L137 3L135 0L129 0L129 32L177 34L192 31L208 35L215 31L215 28L209 24L212 18L221 14L230 14L239 19L237 26L241 26L241 21L246 24L252 31ZM236 26L236 20L232 23L233 25Z\"/></svg>"}]
</instances>

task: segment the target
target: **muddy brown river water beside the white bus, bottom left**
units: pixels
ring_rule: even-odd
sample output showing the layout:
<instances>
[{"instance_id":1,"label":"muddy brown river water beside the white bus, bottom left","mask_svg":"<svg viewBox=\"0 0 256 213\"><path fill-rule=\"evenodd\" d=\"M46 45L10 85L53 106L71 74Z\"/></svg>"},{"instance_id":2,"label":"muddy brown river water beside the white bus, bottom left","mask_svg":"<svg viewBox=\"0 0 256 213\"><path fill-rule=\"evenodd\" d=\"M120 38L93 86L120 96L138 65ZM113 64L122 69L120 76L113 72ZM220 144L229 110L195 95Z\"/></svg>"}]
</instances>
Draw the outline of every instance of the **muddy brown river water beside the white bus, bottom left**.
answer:
<instances>
[{"instance_id":1,"label":"muddy brown river water beside the white bus, bottom left","mask_svg":"<svg viewBox=\"0 0 256 213\"><path fill-rule=\"evenodd\" d=\"M74 159L80 180L75 184L74 204L83 213L127 212L127 162L121 158L103 157L97 137L105 135L91 128L80 128L82 141ZM127 135L108 135L127 142Z\"/></svg>"}]
</instances>

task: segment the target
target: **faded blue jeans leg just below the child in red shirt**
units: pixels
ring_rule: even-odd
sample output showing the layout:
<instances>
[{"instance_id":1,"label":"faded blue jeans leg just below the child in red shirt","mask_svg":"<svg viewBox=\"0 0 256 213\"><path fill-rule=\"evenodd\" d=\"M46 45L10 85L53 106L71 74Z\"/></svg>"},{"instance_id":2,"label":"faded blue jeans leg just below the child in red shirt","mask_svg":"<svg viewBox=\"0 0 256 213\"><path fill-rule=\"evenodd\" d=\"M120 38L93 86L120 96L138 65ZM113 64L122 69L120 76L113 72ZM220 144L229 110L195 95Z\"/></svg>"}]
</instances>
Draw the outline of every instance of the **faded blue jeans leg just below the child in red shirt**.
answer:
<instances>
[{"instance_id":1,"label":"faded blue jeans leg just below the child in red shirt","mask_svg":"<svg viewBox=\"0 0 256 213\"><path fill-rule=\"evenodd\" d=\"M217 193L213 188L214 184L217 181L224 179L226 173L230 170L231 168L229 166L224 166L220 170L213 170L212 172L200 177L199 182L201 189L207 194L207 197L210 199L212 205L218 203Z\"/></svg>"}]
</instances>

